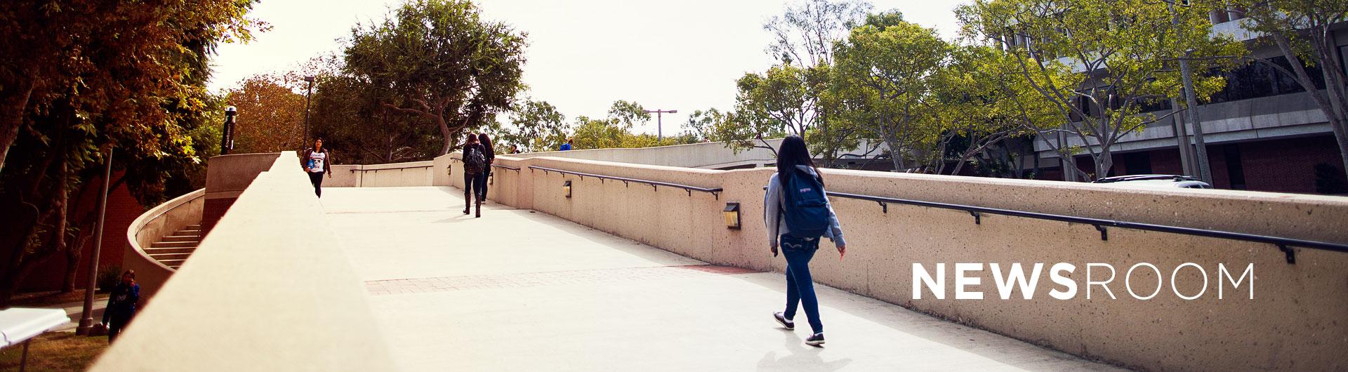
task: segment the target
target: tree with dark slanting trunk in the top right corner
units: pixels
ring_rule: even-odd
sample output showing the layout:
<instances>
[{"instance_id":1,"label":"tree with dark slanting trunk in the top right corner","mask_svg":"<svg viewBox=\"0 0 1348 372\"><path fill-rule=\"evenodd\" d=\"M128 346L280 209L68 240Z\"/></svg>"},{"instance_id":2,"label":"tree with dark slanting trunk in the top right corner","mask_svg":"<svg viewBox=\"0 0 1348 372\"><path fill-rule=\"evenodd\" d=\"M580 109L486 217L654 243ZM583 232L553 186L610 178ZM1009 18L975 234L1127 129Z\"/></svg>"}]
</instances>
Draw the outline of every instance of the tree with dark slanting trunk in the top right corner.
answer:
<instances>
[{"instance_id":1,"label":"tree with dark slanting trunk in the top right corner","mask_svg":"<svg viewBox=\"0 0 1348 372\"><path fill-rule=\"evenodd\" d=\"M1348 1L1237 0L1233 5L1246 11L1242 27L1266 35L1264 40L1278 46L1291 69L1274 66L1295 78L1325 113L1339 142L1341 166L1348 170L1348 75L1335 42L1337 26L1348 19ZM1320 67L1320 75L1305 65Z\"/></svg>"}]
</instances>

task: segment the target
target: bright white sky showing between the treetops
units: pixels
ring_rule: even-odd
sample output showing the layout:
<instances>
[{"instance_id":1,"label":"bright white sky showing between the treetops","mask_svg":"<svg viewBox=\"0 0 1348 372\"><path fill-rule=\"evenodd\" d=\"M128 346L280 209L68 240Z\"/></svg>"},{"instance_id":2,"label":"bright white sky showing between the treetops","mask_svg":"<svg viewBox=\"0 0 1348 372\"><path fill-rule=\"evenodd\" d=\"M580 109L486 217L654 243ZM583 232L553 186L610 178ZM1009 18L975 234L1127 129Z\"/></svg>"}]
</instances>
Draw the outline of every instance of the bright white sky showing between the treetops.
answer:
<instances>
[{"instance_id":1,"label":"bright white sky showing between the treetops","mask_svg":"<svg viewBox=\"0 0 1348 372\"><path fill-rule=\"evenodd\" d=\"M301 62L340 53L357 22L383 20L398 0L264 0L249 16L272 26L248 44L222 44L213 58L212 90L259 73L287 71ZM735 80L772 65L763 24L786 0L479 0L483 16L528 32L524 84L530 96L555 105L568 121L603 117L615 100L665 115L675 135L696 109L729 109ZM905 19L956 34L961 0L872 0L875 11L899 9ZM503 121L506 121L503 119ZM655 120L639 132L654 133Z\"/></svg>"}]
</instances>

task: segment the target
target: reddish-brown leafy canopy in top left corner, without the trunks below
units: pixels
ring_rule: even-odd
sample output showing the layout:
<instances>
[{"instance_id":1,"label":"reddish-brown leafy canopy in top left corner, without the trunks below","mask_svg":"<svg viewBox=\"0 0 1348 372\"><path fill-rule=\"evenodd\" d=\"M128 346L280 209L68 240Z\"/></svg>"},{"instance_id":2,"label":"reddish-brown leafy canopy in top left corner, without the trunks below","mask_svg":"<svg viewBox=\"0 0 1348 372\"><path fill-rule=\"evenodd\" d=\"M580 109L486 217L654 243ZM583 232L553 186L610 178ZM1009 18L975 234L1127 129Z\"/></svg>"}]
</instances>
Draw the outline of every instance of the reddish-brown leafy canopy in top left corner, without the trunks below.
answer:
<instances>
[{"instance_id":1,"label":"reddish-brown leafy canopy in top left corner, without the trunks below","mask_svg":"<svg viewBox=\"0 0 1348 372\"><path fill-rule=\"evenodd\" d=\"M185 90L183 51L266 27L244 18L252 3L0 1L0 170L27 115L59 100L81 116L117 117L116 131L162 120L152 97Z\"/></svg>"}]
</instances>

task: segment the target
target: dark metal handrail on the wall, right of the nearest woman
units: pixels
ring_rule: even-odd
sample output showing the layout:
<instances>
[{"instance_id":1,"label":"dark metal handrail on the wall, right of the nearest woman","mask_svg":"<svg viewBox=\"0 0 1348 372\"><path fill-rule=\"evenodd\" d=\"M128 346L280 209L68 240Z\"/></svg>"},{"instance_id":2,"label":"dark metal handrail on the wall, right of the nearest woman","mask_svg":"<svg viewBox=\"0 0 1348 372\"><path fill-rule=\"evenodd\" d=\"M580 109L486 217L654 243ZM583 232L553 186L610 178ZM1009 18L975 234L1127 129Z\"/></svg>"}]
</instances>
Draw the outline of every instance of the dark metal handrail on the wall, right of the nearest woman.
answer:
<instances>
[{"instance_id":1,"label":"dark metal handrail on the wall, right of the nearest woman","mask_svg":"<svg viewBox=\"0 0 1348 372\"><path fill-rule=\"evenodd\" d=\"M902 204L902 205L915 205L915 206L927 206L927 208L964 210L964 212L968 212L969 216L973 216L973 224L983 224L983 218L981 218L983 213L1002 214L1002 216L1014 216L1014 217L1026 217L1026 218L1038 218L1038 220L1050 220L1050 221L1062 221L1062 222L1070 222L1070 224L1086 224L1086 225L1095 226L1096 230L1100 230L1100 240L1109 240L1108 228L1123 228L1123 229L1135 229L1135 230L1153 230L1153 232L1180 233L1180 235L1217 237L1217 239L1229 239L1229 240L1242 240L1242 241L1254 241L1254 243L1267 243L1267 244L1277 245L1279 249L1282 249L1282 252L1287 255L1287 263L1297 263L1295 255L1293 253L1291 248L1289 248L1289 247L1302 247L1302 248L1313 248L1313 249L1324 249L1324 251L1333 251L1333 252L1345 252L1345 253L1348 253L1348 244L1336 244L1336 243L1326 243L1326 241L1313 241L1313 240L1301 240L1301 239L1278 237L1278 236L1263 236L1263 235L1252 235L1252 233L1237 233L1237 232L1224 232L1224 230L1206 230L1206 229L1181 228L1181 226L1155 225L1155 224L1140 224L1140 222L1128 222L1128 221L1116 221L1116 220L1101 220L1101 218L1076 217L1076 216L1062 216L1062 214L1037 213L1037 212L1011 210L1011 209L998 209L998 208L960 205L960 204L944 204L944 202L929 202L929 201L887 198L887 197L849 194L849 193L828 191L828 194L830 197L840 197L840 198L849 198L849 199L863 199L863 201L874 201L874 202L880 204L880 208L884 210L884 213L890 213L890 208L888 208L890 204Z\"/></svg>"}]
</instances>

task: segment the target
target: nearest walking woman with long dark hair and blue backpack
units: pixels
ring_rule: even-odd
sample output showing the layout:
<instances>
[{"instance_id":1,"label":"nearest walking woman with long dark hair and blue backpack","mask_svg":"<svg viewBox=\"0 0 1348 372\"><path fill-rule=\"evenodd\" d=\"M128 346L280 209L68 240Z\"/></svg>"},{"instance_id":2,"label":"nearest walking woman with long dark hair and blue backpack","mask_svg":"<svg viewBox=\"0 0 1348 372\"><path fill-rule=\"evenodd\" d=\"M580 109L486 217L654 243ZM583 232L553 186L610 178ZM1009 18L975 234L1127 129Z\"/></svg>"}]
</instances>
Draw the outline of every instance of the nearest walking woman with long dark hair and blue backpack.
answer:
<instances>
[{"instance_id":1,"label":"nearest walking woman with long dark hair and blue backpack","mask_svg":"<svg viewBox=\"0 0 1348 372\"><path fill-rule=\"evenodd\" d=\"M787 136L776 152L776 173L767 182L763 199L767 240L772 256L786 255L786 311L772 313L786 329L795 329L797 305L803 305L813 333L805 344L824 344L820 301L810 278L810 259L820 248L820 239L833 240L838 255L847 253L842 228L824 191L824 177L814 167L805 139ZM780 244L778 244L780 241Z\"/></svg>"}]
</instances>

